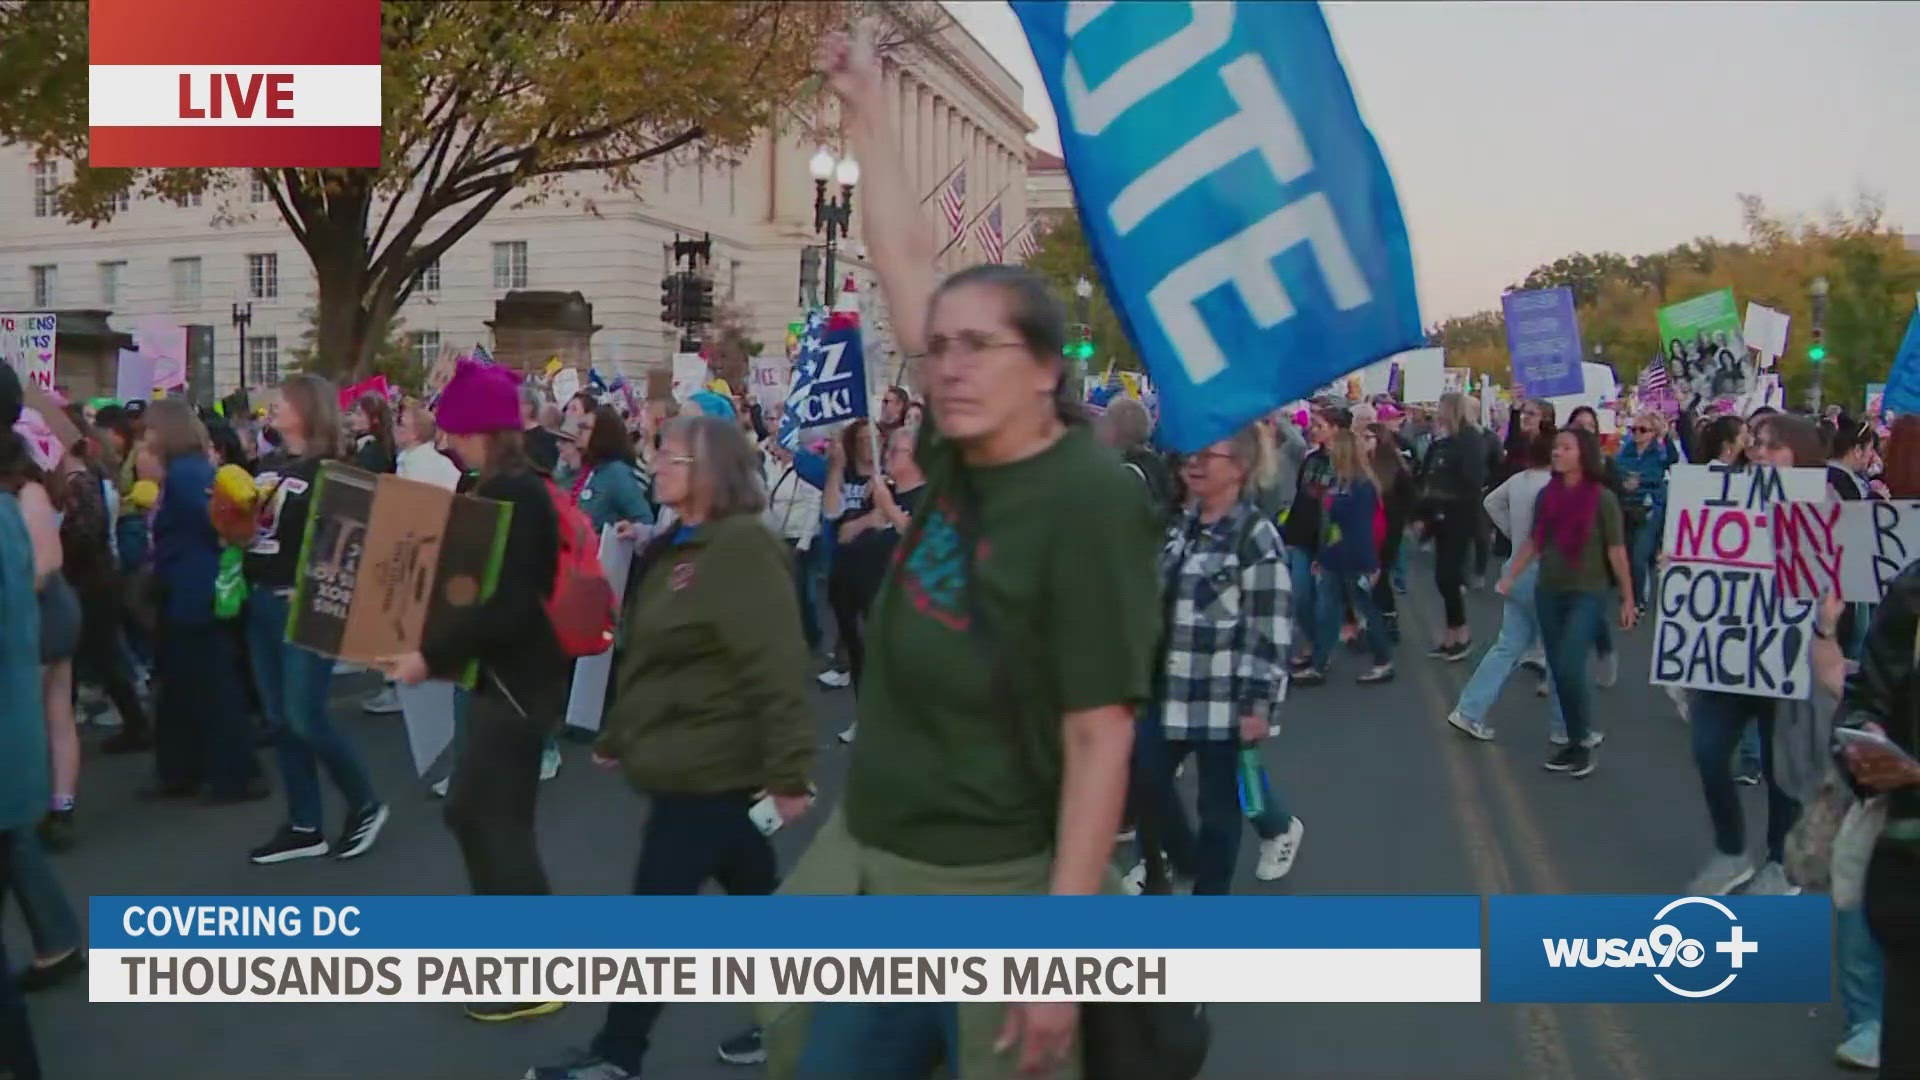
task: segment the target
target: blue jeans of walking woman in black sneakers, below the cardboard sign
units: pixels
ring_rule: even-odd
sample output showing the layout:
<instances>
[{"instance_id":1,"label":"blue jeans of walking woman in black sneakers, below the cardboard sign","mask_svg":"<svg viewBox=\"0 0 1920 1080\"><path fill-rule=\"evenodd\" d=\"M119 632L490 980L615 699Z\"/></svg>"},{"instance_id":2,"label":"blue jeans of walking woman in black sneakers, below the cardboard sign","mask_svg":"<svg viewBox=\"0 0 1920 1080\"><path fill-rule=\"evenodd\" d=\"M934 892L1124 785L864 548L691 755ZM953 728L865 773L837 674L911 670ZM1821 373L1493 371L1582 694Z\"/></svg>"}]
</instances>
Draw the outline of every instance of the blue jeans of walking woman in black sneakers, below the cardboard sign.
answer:
<instances>
[{"instance_id":1,"label":"blue jeans of walking woman in black sneakers, below the cardboard sign","mask_svg":"<svg viewBox=\"0 0 1920 1080\"><path fill-rule=\"evenodd\" d=\"M248 634L253 682L267 721L278 728L275 751L286 784L286 821L294 828L321 828L321 765L353 811L378 799L353 744L326 717L326 690L334 661L286 642L288 598L255 588L248 600Z\"/></svg>"}]
</instances>

